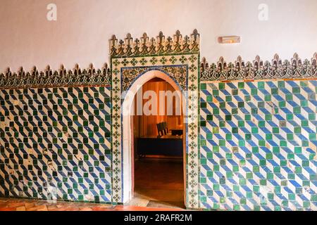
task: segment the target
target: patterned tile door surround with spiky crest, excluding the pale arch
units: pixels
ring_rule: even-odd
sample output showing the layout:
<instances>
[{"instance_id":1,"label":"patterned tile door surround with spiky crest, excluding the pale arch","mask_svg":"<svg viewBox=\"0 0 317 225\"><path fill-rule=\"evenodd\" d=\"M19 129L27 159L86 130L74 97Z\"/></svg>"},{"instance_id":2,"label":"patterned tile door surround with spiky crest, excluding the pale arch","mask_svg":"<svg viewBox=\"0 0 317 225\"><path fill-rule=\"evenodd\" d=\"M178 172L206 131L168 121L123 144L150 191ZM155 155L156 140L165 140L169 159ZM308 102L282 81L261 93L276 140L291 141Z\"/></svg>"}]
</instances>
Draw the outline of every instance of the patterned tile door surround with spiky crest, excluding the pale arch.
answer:
<instances>
[{"instance_id":1,"label":"patterned tile door surround with spiky crest, excluding the pale arch","mask_svg":"<svg viewBox=\"0 0 317 225\"><path fill-rule=\"evenodd\" d=\"M156 39L147 34L133 40L128 34L125 41L115 36L110 40L112 71L112 198L123 203L123 124L122 94L144 72L161 70L175 83L188 91L187 99L187 190L186 205L199 207L199 34L194 30L190 37L182 38L176 32L167 39L160 32ZM184 77L185 75L185 77Z\"/></svg>"}]
</instances>

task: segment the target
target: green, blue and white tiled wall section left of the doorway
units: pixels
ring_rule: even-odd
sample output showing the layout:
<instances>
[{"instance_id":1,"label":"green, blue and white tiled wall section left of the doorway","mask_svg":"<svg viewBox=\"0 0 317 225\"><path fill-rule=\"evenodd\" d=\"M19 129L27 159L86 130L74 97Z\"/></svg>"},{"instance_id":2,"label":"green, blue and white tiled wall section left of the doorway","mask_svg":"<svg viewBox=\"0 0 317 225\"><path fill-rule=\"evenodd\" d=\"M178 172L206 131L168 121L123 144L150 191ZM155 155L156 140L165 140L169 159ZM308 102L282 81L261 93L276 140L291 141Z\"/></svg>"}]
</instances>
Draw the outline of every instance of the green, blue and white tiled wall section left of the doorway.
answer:
<instances>
[{"instance_id":1,"label":"green, blue and white tiled wall section left of the doorway","mask_svg":"<svg viewBox=\"0 0 317 225\"><path fill-rule=\"evenodd\" d=\"M110 87L0 90L0 195L111 202Z\"/></svg>"}]
</instances>

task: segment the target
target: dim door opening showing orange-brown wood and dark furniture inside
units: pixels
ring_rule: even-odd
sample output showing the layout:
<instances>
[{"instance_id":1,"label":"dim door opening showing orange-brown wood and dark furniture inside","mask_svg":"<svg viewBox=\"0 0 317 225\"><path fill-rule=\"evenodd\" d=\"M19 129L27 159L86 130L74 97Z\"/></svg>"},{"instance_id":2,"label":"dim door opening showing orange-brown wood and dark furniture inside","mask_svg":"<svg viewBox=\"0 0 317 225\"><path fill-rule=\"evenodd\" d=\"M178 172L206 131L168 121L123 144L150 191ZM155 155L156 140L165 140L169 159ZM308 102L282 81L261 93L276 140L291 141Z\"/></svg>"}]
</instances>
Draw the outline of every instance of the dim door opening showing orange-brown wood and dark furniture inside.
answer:
<instances>
[{"instance_id":1,"label":"dim door opening showing orange-brown wood and dark furniture inside","mask_svg":"<svg viewBox=\"0 0 317 225\"><path fill-rule=\"evenodd\" d=\"M175 94L173 86L163 79L154 78L142 86L142 93L153 91L159 96L156 115L132 115L132 195L130 205L147 207L185 208L185 124L182 110L178 114L177 101L164 100L165 113L159 113L161 91ZM143 95L142 95L143 96ZM134 109L137 112L137 96ZM142 99L142 109L151 99ZM155 107L151 105L151 107ZM170 108L173 112L170 115ZM169 111L169 112L168 112ZM135 113L136 114L136 113ZM159 131L162 124L163 131Z\"/></svg>"}]
</instances>

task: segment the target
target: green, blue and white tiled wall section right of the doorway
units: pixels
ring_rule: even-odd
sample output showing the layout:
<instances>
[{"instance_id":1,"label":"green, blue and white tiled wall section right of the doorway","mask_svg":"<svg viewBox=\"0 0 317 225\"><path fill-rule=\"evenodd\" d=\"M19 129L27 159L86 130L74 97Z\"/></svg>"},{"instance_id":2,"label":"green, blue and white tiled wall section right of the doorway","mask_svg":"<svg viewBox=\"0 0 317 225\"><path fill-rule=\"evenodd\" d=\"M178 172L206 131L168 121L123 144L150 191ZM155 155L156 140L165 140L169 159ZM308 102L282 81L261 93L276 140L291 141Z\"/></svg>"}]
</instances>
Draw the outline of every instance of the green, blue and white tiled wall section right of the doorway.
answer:
<instances>
[{"instance_id":1,"label":"green, blue and white tiled wall section right of the doorway","mask_svg":"<svg viewBox=\"0 0 317 225\"><path fill-rule=\"evenodd\" d=\"M201 84L201 206L317 210L317 81Z\"/></svg>"}]
</instances>

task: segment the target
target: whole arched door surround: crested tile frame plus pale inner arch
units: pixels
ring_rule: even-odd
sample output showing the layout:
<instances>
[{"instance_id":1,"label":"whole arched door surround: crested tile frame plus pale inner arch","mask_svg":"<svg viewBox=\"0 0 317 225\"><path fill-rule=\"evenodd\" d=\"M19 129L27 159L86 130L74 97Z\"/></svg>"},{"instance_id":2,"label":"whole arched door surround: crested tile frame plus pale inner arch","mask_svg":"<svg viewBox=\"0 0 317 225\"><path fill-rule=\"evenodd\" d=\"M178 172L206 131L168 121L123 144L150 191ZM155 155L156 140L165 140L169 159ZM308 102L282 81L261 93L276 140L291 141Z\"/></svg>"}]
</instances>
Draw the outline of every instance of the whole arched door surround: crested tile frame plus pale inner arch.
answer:
<instances>
[{"instance_id":1,"label":"whole arched door surround: crested tile frame plus pale inner arch","mask_svg":"<svg viewBox=\"0 0 317 225\"><path fill-rule=\"evenodd\" d=\"M141 42L139 40L142 40ZM200 38L197 30L182 37L179 31L173 38L162 32L149 39L144 33L141 39L130 34L124 40L115 35L109 40L111 53L111 202L128 203L132 197L131 130L128 113L133 95L127 98L125 91L137 91L156 77L156 70L170 84L180 86L186 95L186 189L185 206L199 208L200 152L199 152L199 61ZM139 43L139 44L137 44ZM175 89L178 89L175 87ZM123 127L123 123L125 124ZM128 129L126 128L128 127Z\"/></svg>"}]
</instances>

